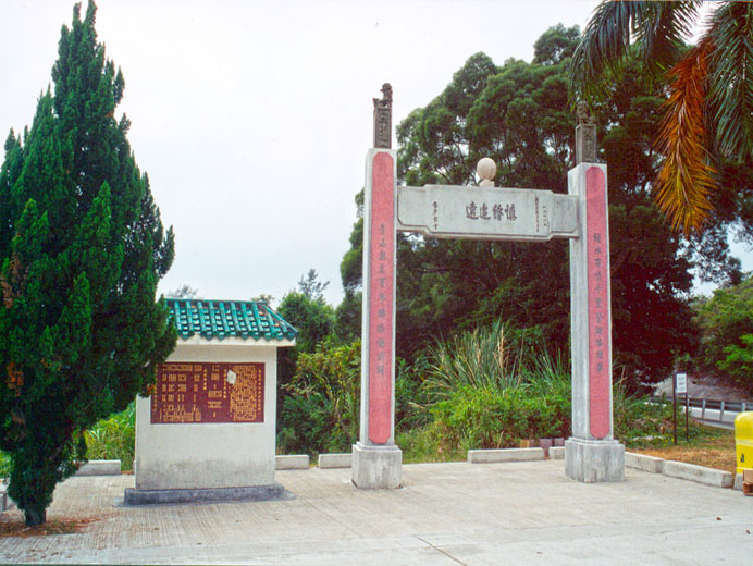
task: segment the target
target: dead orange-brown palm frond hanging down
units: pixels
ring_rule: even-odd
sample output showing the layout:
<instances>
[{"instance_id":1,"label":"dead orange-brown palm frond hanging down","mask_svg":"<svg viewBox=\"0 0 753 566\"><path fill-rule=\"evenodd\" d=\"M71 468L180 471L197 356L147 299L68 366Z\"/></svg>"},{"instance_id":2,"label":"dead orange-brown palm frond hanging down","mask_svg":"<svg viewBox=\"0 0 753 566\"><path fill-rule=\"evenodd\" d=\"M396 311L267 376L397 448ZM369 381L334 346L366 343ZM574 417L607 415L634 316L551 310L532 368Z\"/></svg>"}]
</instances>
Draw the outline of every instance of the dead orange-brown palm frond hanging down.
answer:
<instances>
[{"instance_id":1,"label":"dead orange-brown palm frond hanging down","mask_svg":"<svg viewBox=\"0 0 753 566\"><path fill-rule=\"evenodd\" d=\"M670 96L664 104L657 146L665 156L656 183L656 202L676 230L700 230L712 206L714 169L708 163L705 116L706 78L714 44L704 38L668 73Z\"/></svg>"}]
</instances>

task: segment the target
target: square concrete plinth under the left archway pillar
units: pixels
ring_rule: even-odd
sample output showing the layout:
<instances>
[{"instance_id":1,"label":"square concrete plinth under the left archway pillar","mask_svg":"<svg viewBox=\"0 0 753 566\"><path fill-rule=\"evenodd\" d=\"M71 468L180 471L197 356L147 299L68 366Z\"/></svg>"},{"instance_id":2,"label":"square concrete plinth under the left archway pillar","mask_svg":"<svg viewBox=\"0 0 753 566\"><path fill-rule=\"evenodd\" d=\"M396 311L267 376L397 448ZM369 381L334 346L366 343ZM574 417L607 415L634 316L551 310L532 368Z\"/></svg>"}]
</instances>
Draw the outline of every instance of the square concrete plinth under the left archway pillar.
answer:
<instances>
[{"instance_id":1,"label":"square concrete plinth under the left archway pillar","mask_svg":"<svg viewBox=\"0 0 753 566\"><path fill-rule=\"evenodd\" d=\"M363 490L400 487L403 451L394 444L353 446L353 483Z\"/></svg>"}]
</instances>

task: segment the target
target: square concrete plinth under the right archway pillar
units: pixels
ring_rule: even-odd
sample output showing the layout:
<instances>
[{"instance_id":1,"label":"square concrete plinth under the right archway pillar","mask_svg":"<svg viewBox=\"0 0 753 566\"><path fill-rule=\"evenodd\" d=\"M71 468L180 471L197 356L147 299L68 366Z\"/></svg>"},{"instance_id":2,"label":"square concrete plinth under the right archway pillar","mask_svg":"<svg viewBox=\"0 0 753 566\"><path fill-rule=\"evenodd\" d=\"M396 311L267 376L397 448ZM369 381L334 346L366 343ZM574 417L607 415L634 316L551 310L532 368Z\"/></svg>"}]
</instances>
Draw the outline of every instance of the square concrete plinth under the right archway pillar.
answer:
<instances>
[{"instance_id":1,"label":"square concrete plinth under the right archway pillar","mask_svg":"<svg viewBox=\"0 0 753 566\"><path fill-rule=\"evenodd\" d=\"M565 475L583 483L622 481L625 446L616 440L568 439L565 442Z\"/></svg>"}]
</instances>

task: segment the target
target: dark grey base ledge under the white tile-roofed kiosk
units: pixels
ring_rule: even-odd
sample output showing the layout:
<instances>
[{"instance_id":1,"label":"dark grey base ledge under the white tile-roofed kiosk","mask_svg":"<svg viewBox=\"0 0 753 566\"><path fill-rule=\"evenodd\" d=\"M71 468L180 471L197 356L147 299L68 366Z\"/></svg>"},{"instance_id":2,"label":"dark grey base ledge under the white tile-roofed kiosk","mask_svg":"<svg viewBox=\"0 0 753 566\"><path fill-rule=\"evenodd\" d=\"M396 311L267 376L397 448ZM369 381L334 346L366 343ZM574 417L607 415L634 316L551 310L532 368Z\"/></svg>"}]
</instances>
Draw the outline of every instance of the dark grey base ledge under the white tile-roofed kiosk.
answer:
<instances>
[{"instance_id":1,"label":"dark grey base ledge under the white tile-roofed kiosk","mask_svg":"<svg viewBox=\"0 0 753 566\"><path fill-rule=\"evenodd\" d=\"M245 488L211 488L200 490L125 490L125 505L174 505L178 503L218 503L243 501L274 501L294 499L277 483Z\"/></svg>"}]
</instances>

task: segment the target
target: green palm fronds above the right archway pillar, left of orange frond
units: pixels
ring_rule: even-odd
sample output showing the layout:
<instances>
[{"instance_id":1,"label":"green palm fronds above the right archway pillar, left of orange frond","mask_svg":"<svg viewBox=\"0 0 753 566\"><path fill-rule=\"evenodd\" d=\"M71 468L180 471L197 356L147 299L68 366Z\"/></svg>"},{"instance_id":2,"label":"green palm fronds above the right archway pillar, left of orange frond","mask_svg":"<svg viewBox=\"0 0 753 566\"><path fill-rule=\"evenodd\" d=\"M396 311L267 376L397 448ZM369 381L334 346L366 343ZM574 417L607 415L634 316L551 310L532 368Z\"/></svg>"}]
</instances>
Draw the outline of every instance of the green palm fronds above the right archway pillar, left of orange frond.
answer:
<instances>
[{"instance_id":1,"label":"green palm fronds above the right archway pillar, left of orange frond","mask_svg":"<svg viewBox=\"0 0 753 566\"><path fill-rule=\"evenodd\" d=\"M583 30L570 62L570 94L590 102L608 91L634 39L650 76L658 77L679 59L690 37L699 0L679 2L603 1Z\"/></svg>"}]
</instances>

